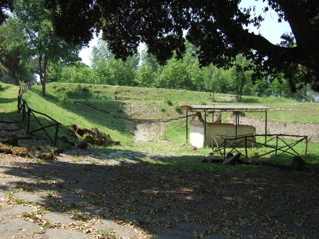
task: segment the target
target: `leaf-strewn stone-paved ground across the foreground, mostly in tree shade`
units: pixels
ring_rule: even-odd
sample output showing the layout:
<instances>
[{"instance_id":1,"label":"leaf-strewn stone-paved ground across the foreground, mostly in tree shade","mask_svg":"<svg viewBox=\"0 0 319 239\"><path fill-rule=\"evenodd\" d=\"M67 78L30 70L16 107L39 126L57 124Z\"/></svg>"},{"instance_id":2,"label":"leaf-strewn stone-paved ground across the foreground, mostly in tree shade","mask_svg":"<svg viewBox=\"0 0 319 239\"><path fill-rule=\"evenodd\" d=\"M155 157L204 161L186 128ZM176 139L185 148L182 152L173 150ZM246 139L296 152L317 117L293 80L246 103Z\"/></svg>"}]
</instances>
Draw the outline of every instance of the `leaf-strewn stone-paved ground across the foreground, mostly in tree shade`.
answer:
<instances>
[{"instance_id":1,"label":"leaf-strewn stone-paved ground across the foreground, mostly in tree shade","mask_svg":"<svg viewBox=\"0 0 319 239\"><path fill-rule=\"evenodd\" d=\"M318 175L160 169L142 157L155 156L1 155L0 238L319 237Z\"/></svg>"}]
</instances>

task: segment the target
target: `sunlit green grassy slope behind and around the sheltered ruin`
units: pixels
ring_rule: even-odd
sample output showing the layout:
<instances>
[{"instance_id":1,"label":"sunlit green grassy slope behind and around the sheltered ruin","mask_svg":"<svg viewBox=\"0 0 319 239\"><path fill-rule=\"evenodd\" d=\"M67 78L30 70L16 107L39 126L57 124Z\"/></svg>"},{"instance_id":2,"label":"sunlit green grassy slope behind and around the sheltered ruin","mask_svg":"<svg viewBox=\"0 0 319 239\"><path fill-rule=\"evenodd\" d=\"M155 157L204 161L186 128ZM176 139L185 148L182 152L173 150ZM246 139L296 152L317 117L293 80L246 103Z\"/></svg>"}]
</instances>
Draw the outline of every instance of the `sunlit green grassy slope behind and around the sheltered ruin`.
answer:
<instances>
[{"instance_id":1,"label":"sunlit green grassy slope behind and around the sheltered ruin","mask_svg":"<svg viewBox=\"0 0 319 239\"><path fill-rule=\"evenodd\" d=\"M11 97L14 100L16 98L14 91L17 91L17 89L17 87L12 86L2 92L1 98ZM47 86L47 93L48 97L46 99L42 98L41 87L35 86L24 98L28 100L30 107L47 113L63 125L75 123L82 127L98 127L124 144L124 146L112 146L109 149L120 147L121 149L147 153L191 153L189 147L179 146L185 141L185 119L172 120L168 123L167 130L163 135L163 138L167 140L166 142L135 143L130 127L127 126L126 118L170 119L180 117L180 112L175 110L176 105L236 104L231 102L234 98L232 95L216 94L215 102L212 102L212 94L208 92L109 85L50 83ZM121 100L115 100L115 98ZM167 99L172 101L172 105L165 102ZM241 104L270 107L270 120L319 121L317 103L298 103L291 99L276 97L244 96ZM305 109L307 111L304 111ZM11 116L17 115L16 101L5 104L3 111ZM303 116L300 117L300 115ZM253 114L252 116L262 117ZM63 134L65 134L65 130L62 128L60 136ZM318 144L309 144L310 154L306 158L308 162L317 162L317 156L319 155L317 146ZM304 145L300 145L297 149L302 152ZM209 148L202 148L195 153L205 154L209 151ZM252 154L254 153L252 151ZM285 157L282 157L282 159L285 161Z\"/></svg>"}]
</instances>

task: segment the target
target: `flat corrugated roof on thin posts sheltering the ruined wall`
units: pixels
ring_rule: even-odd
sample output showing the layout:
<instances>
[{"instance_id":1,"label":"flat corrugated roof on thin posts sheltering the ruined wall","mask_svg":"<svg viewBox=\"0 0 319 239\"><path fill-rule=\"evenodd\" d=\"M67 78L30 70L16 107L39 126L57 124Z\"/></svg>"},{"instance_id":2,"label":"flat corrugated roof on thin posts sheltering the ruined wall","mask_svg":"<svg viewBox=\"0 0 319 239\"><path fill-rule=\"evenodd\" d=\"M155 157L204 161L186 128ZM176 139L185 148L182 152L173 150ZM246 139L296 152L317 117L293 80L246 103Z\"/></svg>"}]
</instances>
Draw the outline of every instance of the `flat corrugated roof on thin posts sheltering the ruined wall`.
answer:
<instances>
[{"instance_id":1,"label":"flat corrugated roof on thin posts sheltering the ruined wall","mask_svg":"<svg viewBox=\"0 0 319 239\"><path fill-rule=\"evenodd\" d=\"M212 110L212 111L266 111L269 107L262 105L182 105L181 110Z\"/></svg>"}]
</instances>

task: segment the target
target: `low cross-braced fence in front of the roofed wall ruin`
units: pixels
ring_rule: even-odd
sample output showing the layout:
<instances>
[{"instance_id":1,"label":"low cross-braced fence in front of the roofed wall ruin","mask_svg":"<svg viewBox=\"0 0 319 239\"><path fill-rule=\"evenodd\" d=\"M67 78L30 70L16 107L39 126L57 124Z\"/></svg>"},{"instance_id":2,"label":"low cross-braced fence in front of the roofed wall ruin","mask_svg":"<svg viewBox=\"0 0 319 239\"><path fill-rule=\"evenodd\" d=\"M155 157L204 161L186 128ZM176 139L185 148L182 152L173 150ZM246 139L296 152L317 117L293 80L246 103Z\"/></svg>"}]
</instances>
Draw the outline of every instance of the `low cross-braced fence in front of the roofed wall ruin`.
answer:
<instances>
[{"instance_id":1,"label":"low cross-braced fence in front of the roofed wall ruin","mask_svg":"<svg viewBox=\"0 0 319 239\"><path fill-rule=\"evenodd\" d=\"M270 139L267 139L265 142L258 142L256 140L257 137L271 137ZM296 141L292 143L287 143L285 140L286 138L283 137L289 137L289 138L297 138ZM254 156L256 157L262 157L267 154L271 154L275 152L276 156L279 156L283 153L291 154L293 156L299 156L299 153L293 148L297 144L299 144L302 141L306 142L306 148L305 148L305 155L307 155L307 149L308 149L308 136L302 136L302 135L290 135L290 134L244 134L244 135L237 135L236 137L232 137L232 135L217 135L212 134L212 151L213 152L219 152L221 155L224 156L224 159L226 158L226 148L230 148L231 150L227 153L231 153L233 151L236 151L239 153L240 151L238 148L245 148L245 156L248 158L248 149L251 149L248 145L251 144L252 147L257 146L255 150L258 150L261 147L265 148L271 148L271 151L263 153L261 155ZM222 143L220 145L217 144L216 138L222 139ZM219 140L220 141L220 140ZM275 145L272 145L271 142L276 141ZM214 149L214 142L217 144L217 148ZM281 142L283 145L278 145L278 143ZM291 151L288 151L291 150Z\"/></svg>"}]
</instances>

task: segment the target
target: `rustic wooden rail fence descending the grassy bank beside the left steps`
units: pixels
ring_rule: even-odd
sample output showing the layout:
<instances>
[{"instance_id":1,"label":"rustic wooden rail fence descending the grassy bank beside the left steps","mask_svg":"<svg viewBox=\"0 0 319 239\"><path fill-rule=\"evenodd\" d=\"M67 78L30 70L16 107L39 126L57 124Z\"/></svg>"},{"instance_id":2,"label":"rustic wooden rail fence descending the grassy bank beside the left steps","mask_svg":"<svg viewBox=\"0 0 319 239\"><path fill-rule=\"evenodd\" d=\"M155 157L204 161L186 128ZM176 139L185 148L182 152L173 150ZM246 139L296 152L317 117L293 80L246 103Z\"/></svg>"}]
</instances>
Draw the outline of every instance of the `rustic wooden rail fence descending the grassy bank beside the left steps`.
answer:
<instances>
[{"instance_id":1,"label":"rustic wooden rail fence descending the grassy bank beside the left steps","mask_svg":"<svg viewBox=\"0 0 319 239\"><path fill-rule=\"evenodd\" d=\"M58 138L58 132L59 132L59 127L61 125L60 122L56 121L55 119L53 119L52 117L48 116L45 113L39 112L39 111L35 111L33 109L31 109L27 103L26 100L24 100L22 97L23 95L26 93L26 91L28 91L33 85L36 84L35 80L32 80L22 86L20 86L19 88L19 95L18 95L18 112L22 111L22 121L24 121L25 119L27 119L26 122L26 131L28 134L33 134L37 131L43 130L44 133L48 136L48 138L50 139L50 141L52 143L54 143L54 145L56 145L57 142L57 138ZM43 124L41 123L41 121L39 120L39 118L35 115L35 114L40 114L42 116L45 116L46 118L48 118L49 120L53 121L52 124L49 124L47 126L43 126ZM34 119L36 120L36 122L41 126L40 128L37 128L35 130L30 131L30 122L31 122L31 115L34 117ZM50 137L50 135L47 132L47 128L49 127L55 127L55 137L54 140L52 139L52 137Z\"/></svg>"}]
</instances>

